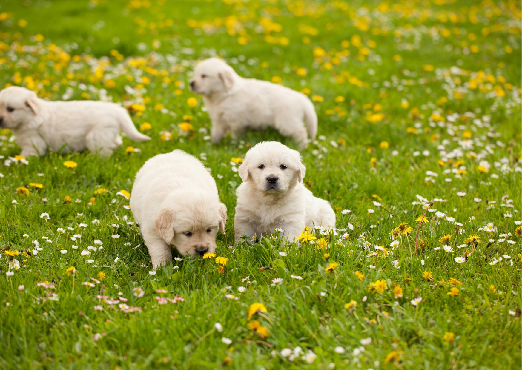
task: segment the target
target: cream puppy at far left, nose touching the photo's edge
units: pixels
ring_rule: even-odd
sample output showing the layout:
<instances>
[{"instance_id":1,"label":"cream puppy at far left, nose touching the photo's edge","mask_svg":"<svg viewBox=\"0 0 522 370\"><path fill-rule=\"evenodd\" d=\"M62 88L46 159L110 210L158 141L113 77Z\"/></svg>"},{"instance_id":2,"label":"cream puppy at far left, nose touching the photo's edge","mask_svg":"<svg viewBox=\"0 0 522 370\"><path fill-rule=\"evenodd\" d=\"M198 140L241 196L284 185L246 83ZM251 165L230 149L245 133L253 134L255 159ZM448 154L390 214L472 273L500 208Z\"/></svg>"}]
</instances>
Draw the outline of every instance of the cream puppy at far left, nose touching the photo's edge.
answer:
<instances>
[{"instance_id":1,"label":"cream puppy at far left, nose touching the photo's edge","mask_svg":"<svg viewBox=\"0 0 522 370\"><path fill-rule=\"evenodd\" d=\"M99 151L110 156L122 144L120 129L134 141L140 134L121 106L99 101L46 101L23 87L0 91L0 127L10 128L23 157L51 151Z\"/></svg>"}]
</instances>

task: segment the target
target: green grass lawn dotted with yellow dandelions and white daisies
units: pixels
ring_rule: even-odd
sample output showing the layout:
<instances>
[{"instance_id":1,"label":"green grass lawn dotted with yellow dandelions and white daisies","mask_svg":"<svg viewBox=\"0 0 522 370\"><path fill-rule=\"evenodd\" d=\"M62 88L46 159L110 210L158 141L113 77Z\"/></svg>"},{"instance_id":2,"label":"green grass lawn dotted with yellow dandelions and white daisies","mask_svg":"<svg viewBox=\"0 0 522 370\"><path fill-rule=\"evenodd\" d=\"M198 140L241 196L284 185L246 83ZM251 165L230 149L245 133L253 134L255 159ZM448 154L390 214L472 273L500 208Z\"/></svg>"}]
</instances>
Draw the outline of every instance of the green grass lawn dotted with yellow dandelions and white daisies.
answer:
<instances>
[{"instance_id":1,"label":"green grass lawn dotted with yellow dandelions and white daisies","mask_svg":"<svg viewBox=\"0 0 522 370\"><path fill-rule=\"evenodd\" d=\"M133 120L137 127L151 124L144 132L152 140L124 139L110 158L49 153L28 158L26 165L9 159L20 149L11 133L0 134L0 248L33 249L33 240L43 248L35 256L3 253L0 258L0 367L520 368L521 260L515 224L522 201L520 4L440 3L2 2L4 85L27 86L55 100L64 94L67 99L106 95L125 105L143 104L145 111ZM280 28L265 28L265 33L260 28L265 18ZM305 182L331 202L337 228L353 224L346 239L340 241L342 232L331 237L327 251L269 239L233 244L234 193L241 180L231 158L243 157L262 140L296 144L275 130L210 144L208 114L199 97L196 106L187 104L194 94L186 86L195 62L214 54L241 75L279 77L286 86L322 98L315 99L320 136L302 152ZM129 63L136 56L144 63ZM100 62L103 71L97 74ZM298 68L306 75L299 76ZM141 77L149 81L136 90ZM187 120L193 130L185 133L179 124ZM165 132L171 140L162 139ZM128 153L128 146L140 151ZM175 262L178 269L151 276L138 229L127 224L132 221L128 200L116 193L131 190L145 160L173 149L203 160L229 209L227 233L217 240L218 256L229 258L224 273L218 273L213 259L184 258ZM77 162L77 168L67 169L66 160ZM487 173L479 169L482 161L490 165ZM17 194L22 186L28 195ZM99 188L107 192L95 194ZM430 222L422 226L420 246L414 248L416 219L424 212L417 195L443 199L432 209L462 224L453 253L435 249L442 246L442 236L455 235L456 225L434 211L428 212ZM64 202L66 196L72 201ZM40 218L43 212L50 220ZM401 222L414 230L392 250L390 233ZM489 222L494 231L478 231ZM74 242L73 234L81 238ZM481 237L476 247L456 247L472 234ZM103 249L82 256L94 240L102 241ZM389 253L369 256L377 245ZM325 252L329 262L339 264L330 273ZM466 262L454 261L466 253ZM13 260L19 269L9 269ZM424 271L433 279L425 279ZM90 278L98 279L100 272L103 279L93 282ZM275 278L283 282L272 286ZM452 278L461 284L452 284ZM370 283L381 279L387 287L372 291ZM54 289L37 286L42 281ZM397 285L402 297L395 297ZM448 295L455 287L458 295ZM135 297L134 288L143 289L144 296ZM168 293L157 293L160 288ZM98 295L121 297L141 312L125 313ZM184 301L160 305L155 299L175 295ZM416 297L422 301L414 306L410 301ZM351 300L357 306L345 308ZM267 338L247 328L248 308L256 302L267 309L254 317L268 329ZM448 332L453 341L446 340ZM362 345L365 338L371 343ZM315 361L307 363L303 354L292 362L282 357L283 349L298 346L315 353ZM344 352L337 353L337 347Z\"/></svg>"}]
</instances>

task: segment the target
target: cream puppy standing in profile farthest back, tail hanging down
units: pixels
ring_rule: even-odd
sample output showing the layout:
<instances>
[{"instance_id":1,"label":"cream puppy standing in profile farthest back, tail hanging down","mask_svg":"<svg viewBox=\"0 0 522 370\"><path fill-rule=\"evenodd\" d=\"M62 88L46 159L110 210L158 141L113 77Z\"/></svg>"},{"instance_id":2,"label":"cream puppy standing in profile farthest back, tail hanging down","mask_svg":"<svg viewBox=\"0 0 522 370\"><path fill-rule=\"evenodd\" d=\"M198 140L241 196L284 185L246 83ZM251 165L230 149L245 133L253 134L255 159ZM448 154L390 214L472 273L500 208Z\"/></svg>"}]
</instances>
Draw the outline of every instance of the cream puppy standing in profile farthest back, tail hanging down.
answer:
<instances>
[{"instance_id":1,"label":"cream puppy standing in profile farthest back, tail hanging down","mask_svg":"<svg viewBox=\"0 0 522 370\"><path fill-rule=\"evenodd\" d=\"M292 137L304 149L308 146L308 135L313 140L317 134L314 105L304 94L276 83L242 78L221 59L210 58L199 63L191 89L203 94L212 120L213 143L221 141L229 130L236 137L245 127L271 126Z\"/></svg>"}]
</instances>

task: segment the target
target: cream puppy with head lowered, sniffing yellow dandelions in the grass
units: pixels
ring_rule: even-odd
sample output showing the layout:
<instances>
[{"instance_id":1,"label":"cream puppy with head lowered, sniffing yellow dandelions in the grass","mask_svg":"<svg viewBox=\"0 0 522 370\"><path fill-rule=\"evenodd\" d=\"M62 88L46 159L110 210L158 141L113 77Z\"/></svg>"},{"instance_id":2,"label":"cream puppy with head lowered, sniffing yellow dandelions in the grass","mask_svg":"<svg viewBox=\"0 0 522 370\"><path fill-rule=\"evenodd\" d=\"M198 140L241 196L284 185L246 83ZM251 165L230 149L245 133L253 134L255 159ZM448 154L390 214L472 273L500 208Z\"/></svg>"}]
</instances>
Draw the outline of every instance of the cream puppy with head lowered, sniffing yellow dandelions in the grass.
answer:
<instances>
[{"instance_id":1,"label":"cream puppy with head lowered, sniffing yellow dandelions in the grass","mask_svg":"<svg viewBox=\"0 0 522 370\"><path fill-rule=\"evenodd\" d=\"M155 269L172 261L170 245L182 255L214 252L218 228L224 234L227 222L213 177L182 150L145 162L136 174L131 210Z\"/></svg>"}]
</instances>

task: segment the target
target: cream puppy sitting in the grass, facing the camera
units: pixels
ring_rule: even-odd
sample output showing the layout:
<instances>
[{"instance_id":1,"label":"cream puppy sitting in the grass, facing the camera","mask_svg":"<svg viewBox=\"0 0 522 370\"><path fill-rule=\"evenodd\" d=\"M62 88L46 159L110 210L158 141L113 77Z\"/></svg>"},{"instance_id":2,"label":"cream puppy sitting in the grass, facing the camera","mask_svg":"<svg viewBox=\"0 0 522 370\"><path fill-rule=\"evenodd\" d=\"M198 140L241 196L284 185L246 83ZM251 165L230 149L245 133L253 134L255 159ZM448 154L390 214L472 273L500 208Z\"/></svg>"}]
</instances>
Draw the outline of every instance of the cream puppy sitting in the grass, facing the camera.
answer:
<instances>
[{"instance_id":1,"label":"cream puppy sitting in the grass, facing the camera","mask_svg":"<svg viewBox=\"0 0 522 370\"><path fill-rule=\"evenodd\" d=\"M316 198L303 185L301 154L277 141L260 142L248 150L239 167L243 183L236 190L235 240L257 237L275 228L293 240L305 226L335 228L329 202Z\"/></svg>"}]
</instances>

